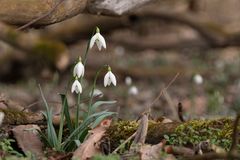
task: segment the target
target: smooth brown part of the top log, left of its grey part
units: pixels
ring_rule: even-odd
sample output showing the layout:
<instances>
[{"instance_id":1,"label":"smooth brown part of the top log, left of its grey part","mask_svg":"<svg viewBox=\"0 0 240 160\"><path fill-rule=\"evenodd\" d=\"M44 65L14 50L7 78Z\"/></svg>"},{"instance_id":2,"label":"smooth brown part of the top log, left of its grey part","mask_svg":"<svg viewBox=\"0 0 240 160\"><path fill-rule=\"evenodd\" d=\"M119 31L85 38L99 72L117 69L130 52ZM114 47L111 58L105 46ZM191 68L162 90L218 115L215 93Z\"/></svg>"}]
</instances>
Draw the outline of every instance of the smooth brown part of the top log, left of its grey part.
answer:
<instances>
[{"instance_id":1,"label":"smooth brown part of the top log, left of its grey part","mask_svg":"<svg viewBox=\"0 0 240 160\"><path fill-rule=\"evenodd\" d=\"M0 21L23 25L49 12L59 0L0 0ZM49 25L71 18L86 7L87 0L65 0L52 14L35 23Z\"/></svg>"}]
</instances>

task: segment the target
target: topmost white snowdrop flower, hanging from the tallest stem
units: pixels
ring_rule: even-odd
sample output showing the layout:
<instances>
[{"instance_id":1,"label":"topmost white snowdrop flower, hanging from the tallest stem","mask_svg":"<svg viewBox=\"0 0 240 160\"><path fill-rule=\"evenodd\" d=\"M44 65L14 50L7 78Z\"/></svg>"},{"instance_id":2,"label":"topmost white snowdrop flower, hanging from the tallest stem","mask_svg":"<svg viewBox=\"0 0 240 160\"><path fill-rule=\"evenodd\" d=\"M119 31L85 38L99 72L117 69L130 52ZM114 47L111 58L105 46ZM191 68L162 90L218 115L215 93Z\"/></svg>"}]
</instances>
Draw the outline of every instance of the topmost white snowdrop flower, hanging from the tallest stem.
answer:
<instances>
[{"instance_id":1,"label":"topmost white snowdrop flower, hanging from the tallest stem","mask_svg":"<svg viewBox=\"0 0 240 160\"><path fill-rule=\"evenodd\" d=\"M104 37L100 34L100 30L97 27L96 29L96 34L94 36L92 36L91 40L90 40L90 49L93 47L94 43L96 42L97 47L99 49L99 51L101 51L102 47L106 49L106 42Z\"/></svg>"}]
</instances>

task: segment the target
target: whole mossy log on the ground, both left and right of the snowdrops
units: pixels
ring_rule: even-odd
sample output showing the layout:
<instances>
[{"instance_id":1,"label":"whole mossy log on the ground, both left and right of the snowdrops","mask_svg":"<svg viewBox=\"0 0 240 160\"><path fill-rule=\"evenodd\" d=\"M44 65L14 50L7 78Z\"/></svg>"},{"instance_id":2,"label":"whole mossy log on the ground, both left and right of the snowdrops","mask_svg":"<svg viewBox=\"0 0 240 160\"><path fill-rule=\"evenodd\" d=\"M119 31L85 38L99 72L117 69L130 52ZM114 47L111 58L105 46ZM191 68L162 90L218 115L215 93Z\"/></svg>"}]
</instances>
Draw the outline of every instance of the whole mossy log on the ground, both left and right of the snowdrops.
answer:
<instances>
[{"instance_id":1,"label":"whole mossy log on the ground, both left and right of the snowdrops","mask_svg":"<svg viewBox=\"0 0 240 160\"><path fill-rule=\"evenodd\" d=\"M41 114L21 112L12 109L0 109L0 111L5 113L4 124L45 123ZM56 117L54 124L58 124ZM146 143L158 144L165 139L167 143L171 145L193 146L202 141L210 141L228 150L232 143L233 125L234 120L228 117L212 120L190 120L184 123L162 123L161 121L150 120ZM137 128L138 123L136 121L118 121L113 123L107 129L105 136L101 140L102 146L106 146L106 143L110 144L110 151L113 151L123 140L129 138Z\"/></svg>"}]
</instances>

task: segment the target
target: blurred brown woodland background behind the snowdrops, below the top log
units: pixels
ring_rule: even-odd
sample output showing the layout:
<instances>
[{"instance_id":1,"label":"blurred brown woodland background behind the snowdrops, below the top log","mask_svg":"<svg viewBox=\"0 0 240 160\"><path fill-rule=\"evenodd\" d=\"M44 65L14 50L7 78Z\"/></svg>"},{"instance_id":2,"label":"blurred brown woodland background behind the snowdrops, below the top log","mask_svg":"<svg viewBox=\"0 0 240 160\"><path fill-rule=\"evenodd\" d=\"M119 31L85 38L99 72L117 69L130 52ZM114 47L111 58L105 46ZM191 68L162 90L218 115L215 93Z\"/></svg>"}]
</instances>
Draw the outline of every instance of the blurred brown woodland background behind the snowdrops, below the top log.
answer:
<instances>
[{"instance_id":1,"label":"blurred brown woodland background behind the snowdrops, below the top log","mask_svg":"<svg viewBox=\"0 0 240 160\"><path fill-rule=\"evenodd\" d=\"M107 49L99 52L94 47L89 52L85 101L97 69L110 64L117 87L104 88L102 73L97 89L102 99L118 101L102 109L117 111L122 119L136 119L177 73L179 77L154 104L154 117L177 119L179 102L189 119L230 116L240 105L239 6L238 0L161 0L120 17L80 14L28 29L66 45L68 54L60 58L56 54L59 60L51 63L0 40L0 107L6 107L4 100L12 100L32 111L42 110L41 84L56 114L61 106L58 93L66 91L74 111L75 95L68 87L72 67L98 26Z\"/></svg>"}]
</instances>

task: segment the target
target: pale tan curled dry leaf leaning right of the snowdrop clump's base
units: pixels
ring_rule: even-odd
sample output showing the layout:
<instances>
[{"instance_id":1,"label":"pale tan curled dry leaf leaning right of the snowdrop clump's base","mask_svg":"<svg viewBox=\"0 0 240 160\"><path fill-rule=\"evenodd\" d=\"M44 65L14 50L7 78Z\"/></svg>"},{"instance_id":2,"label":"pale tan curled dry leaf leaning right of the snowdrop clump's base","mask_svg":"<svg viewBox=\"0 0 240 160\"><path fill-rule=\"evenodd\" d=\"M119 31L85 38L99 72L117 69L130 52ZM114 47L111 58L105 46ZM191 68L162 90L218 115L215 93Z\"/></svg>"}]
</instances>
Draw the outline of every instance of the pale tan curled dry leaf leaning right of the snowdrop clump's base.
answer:
<instances>
[{"instance_id":1,"label":"pale tan curled dry leaf leaning right of the snowdrop clump's base","mask_svg":"<svg viewBox=\"0 0 240 160\"><path fill-rule=\"evenodd\" d=\"M98 142L104 136L106 129L110 126L110 124L111 120L105 119L100 123L100 125L89 131L89 137L73 153L73 159L87 160L92 156L101 153Z\"/></svg>"}]
</instances>

